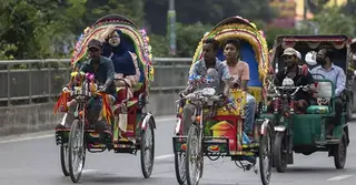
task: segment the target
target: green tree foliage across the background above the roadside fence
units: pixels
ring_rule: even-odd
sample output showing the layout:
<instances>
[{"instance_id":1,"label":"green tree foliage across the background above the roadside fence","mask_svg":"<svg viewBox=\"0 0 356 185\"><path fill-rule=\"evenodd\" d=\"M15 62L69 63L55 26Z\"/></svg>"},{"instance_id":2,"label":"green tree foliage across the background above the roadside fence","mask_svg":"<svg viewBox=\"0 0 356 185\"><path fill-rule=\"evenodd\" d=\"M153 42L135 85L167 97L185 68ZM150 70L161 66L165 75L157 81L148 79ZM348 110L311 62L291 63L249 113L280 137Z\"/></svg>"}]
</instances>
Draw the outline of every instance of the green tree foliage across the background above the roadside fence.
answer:
<instances>
[{"instance_id":1,"label":"green tree foliage across the background above the roadside fence","mask_svg":"<svg viewBox=\"0 0 356 185\"><path fill-rule=\"evenodd\" d=\"M329 1L329 0L327 0ZM325 9L326 0L309 0L319 33L355 37L356 0L343 8ZM314 7L313 7L314 6ZM191 56L210 28L231 16L255 22L271 47L277 34L313 33L310 28L266 29L274 18L268 1L176 0L177 56ZM122 14L148 29L154 56L167 56L168 0L1 0L0 60L69 58L78 35L99 18Z\"/></svg>"}]
</instances>

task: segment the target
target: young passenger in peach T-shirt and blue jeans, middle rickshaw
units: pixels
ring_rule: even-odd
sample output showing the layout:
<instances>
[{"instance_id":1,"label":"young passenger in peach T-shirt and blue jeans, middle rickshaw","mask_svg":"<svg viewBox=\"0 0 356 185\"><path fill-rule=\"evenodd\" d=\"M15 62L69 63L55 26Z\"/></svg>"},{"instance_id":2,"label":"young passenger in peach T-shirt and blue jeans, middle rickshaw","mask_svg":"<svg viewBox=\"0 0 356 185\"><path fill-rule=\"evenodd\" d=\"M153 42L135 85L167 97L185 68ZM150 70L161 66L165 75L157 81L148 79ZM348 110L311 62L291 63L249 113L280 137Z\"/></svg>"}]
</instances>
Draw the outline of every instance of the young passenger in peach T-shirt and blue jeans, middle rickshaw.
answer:
<instances>
[{"instance_id":1,"label":"young passenger in peach T-shirt and blue jeans, middle rickshaw","mask_svg":"<svg viewBox=\"0 0 356 185\"><path fill-rule=\"evenodd\" d=\"M227 64L229 74L231 79L234 79L229 83L230 88L239 88L247 92L249 66L246 62L240 61L239 50L240 42L238 40L227 40L224 49L224 55L226 58L224 63ZM244 132L248 135L249 140L251 140L255 122L256 99L251 94L246 93L246 103L248 109L246 110Z\"/></svg>"}]
</instances>

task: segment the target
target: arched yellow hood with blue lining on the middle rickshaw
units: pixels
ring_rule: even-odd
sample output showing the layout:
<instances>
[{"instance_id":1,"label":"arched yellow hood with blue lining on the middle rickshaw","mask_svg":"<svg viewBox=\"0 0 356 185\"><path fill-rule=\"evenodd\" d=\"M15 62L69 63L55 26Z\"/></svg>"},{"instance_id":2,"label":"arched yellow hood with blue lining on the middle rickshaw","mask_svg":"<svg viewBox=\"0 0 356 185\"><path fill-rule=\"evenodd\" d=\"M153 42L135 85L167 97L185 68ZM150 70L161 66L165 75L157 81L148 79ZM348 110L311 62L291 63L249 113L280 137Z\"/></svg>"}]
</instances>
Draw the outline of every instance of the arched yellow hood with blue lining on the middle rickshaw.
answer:
<instances>
[{"instance_id":1,"label":"arched yellow hood with blue lining on the middle rickshaw","mask_svg":"<svg viewBox=\"0 0 356 185\"><path fill-rule=\"evenodd\" d=\"M256 29L254 23L244 18L227 18L215 25L215 28L201 39L194 55L192 63L202 58L202 41L207 38L215 38L219 41L220 45L217 58L221 61L225 60L225 42L228 39L238 39L240 41L241 60L249 65L250 80L248 82L248 89L256 100L260 102L263 99L263 84L269 68L268 48L263 33Z\"/></svg>"}]
</instances>

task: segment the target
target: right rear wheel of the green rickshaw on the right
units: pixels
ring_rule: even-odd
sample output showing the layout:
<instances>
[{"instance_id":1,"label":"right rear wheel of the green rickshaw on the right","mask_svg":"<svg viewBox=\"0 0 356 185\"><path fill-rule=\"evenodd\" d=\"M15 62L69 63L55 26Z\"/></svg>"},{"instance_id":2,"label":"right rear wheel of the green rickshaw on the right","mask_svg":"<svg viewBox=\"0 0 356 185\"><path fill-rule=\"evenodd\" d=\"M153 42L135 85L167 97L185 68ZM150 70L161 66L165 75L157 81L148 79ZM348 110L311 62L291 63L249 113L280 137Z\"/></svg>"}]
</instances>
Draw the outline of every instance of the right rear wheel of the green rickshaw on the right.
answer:
<instances>
[{"instance_id":1,"label":"right rear wheel of the green rickshaw on the right","mask_svg":"<svg viewBox=\"0 0 356 185\"><path fill-rule=\"evenodd\" d=\"M337 169L342 169L345 166L347 156L346 134L343 132L343 137L336 146L334 146L334 164Z\"/></svg>"}]
</instances>

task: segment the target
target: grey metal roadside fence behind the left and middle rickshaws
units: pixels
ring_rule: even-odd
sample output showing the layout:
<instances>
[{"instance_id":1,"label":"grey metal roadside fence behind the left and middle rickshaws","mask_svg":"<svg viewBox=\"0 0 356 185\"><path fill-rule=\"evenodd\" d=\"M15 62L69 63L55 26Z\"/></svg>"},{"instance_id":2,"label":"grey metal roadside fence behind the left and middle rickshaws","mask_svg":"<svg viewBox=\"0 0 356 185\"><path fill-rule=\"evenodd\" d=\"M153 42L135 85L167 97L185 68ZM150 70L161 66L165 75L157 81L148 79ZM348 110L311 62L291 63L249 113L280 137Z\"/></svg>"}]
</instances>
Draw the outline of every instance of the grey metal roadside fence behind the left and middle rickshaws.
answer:
<instances>
[{"instance_id":1,"label":"grey metal roadside fence behind the left and middle rickshaws","mask_svg":"<svg viewBox=\"0 0 356 185\"><path fill-rule=\"evenodd\" d=\"M190 58L154 59L151 91L181 90L190 64ZM0 61L0 106L52 101L69 81L69 59Z\"/></svg>"}]
</instances>

